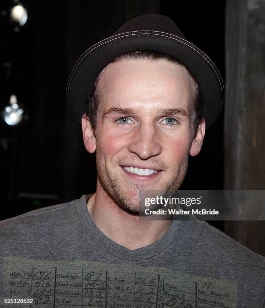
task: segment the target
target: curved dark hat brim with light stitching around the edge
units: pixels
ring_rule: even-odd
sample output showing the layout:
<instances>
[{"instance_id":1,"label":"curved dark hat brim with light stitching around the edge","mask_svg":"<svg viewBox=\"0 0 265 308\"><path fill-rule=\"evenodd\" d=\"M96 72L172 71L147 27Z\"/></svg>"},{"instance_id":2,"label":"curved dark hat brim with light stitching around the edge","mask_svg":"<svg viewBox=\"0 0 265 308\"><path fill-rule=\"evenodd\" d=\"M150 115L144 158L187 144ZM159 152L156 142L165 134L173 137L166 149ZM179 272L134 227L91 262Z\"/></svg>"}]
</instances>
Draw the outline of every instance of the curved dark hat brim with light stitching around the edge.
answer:
<instances>
[{"instance_id":1,"label":"curved dark hat brim with light stitching around the edge","mask_svg":"<svg viewBox=\"0 0 265 308\"><path fill-rule=\"evenodd\" d=\"M87 49L70 74L66 97L76 119L81 122L92 84L114 58L131 51L150 50L180 60L194 75L203 97L203 116L208 129L216 119L224 99L221 75L211 59L189 41L160 31L132 31L113 35Z\"/></svg>"}]
</instances>

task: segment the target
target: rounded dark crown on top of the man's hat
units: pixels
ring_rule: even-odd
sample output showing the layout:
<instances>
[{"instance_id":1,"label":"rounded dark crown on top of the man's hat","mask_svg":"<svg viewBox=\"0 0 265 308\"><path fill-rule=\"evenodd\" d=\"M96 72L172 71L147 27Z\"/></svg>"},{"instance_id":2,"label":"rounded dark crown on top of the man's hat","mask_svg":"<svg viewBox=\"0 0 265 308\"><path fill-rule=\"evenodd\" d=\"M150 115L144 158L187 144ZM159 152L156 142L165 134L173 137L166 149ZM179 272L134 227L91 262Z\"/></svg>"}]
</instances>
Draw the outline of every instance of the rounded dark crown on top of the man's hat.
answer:
<instances>
[{"instance_id":1,"label":"rounded dark crown on top of the man's hat","mask_svg":"<svg viewBox=\"0 0 265 308\"><path fill-rule=\"evenodd\" d=\"M160 14L138 16L121 26L114 35L141 30L166 32L185 39L179 27L170 18Z\"/></svg>"}]
</instances>

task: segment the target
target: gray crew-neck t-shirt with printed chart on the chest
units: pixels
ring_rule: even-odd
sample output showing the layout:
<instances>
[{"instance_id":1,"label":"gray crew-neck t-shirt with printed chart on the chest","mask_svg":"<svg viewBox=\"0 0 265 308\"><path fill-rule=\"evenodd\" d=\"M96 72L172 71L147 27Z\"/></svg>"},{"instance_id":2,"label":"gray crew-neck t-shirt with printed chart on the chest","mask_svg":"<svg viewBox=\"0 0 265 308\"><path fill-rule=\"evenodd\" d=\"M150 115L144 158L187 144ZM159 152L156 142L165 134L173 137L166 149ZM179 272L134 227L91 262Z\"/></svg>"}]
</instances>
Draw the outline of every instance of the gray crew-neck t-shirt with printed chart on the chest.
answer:
<instances>
[{"instance_id":1,"label":"gray crew-neck t-shirt with printed chart on the chest","mask_svg":"<svg viewBox=\"0 0 265 308\"><path fill-rule=\"evenodd\" d=\"M0 307L265 306L265 258L208 223L173 221L128 250L98 229L86 201L0 222Z\"/></svg>"}]
</instances>

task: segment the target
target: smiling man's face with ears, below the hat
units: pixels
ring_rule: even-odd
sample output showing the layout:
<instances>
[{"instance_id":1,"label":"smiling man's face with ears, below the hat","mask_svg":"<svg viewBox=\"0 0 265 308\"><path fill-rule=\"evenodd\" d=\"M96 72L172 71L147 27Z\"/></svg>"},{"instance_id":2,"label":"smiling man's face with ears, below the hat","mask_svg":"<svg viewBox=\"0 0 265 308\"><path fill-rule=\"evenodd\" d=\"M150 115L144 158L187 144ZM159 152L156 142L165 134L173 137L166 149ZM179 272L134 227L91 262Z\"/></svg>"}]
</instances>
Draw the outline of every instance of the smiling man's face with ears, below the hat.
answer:
<instances>
[{"instance_id":1,"label":"smiling man's face with ears, below the hat","mask_svg":"<svg viewBox=\"0 0 265 308\"><path fill-rule=\"evenodd\" d=\"M97 150L98 185L138 213L139 191L178 190L189 152L200 151L204 125L193 139L194 82L181 65L139 59L110 64L98 86L97 128L87 138L92 132L83 116L84 143Z\"/></svg>"}]
</instances>

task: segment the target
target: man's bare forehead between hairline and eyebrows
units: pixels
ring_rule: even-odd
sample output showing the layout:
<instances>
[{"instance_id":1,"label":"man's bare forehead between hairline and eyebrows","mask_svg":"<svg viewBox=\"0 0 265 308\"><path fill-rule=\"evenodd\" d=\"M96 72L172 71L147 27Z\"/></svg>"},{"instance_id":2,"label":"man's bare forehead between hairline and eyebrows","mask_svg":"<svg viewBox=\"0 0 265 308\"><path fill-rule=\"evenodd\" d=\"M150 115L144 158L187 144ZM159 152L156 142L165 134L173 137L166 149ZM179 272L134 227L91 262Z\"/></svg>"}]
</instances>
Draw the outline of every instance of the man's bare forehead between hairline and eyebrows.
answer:
<instances>
[{"instance_id":1,"label":"man's bare forehead between hairline and eyebrows","mask_svg":"<svg viewBox=\"0 0 265 308\"><path fill-rule=\"evenodd\" d=\"M163 59L123 59L110 63L99 81L101 108L142 104L193 107L195 84L183 65Z\"/></svg>"}]
</instances>

